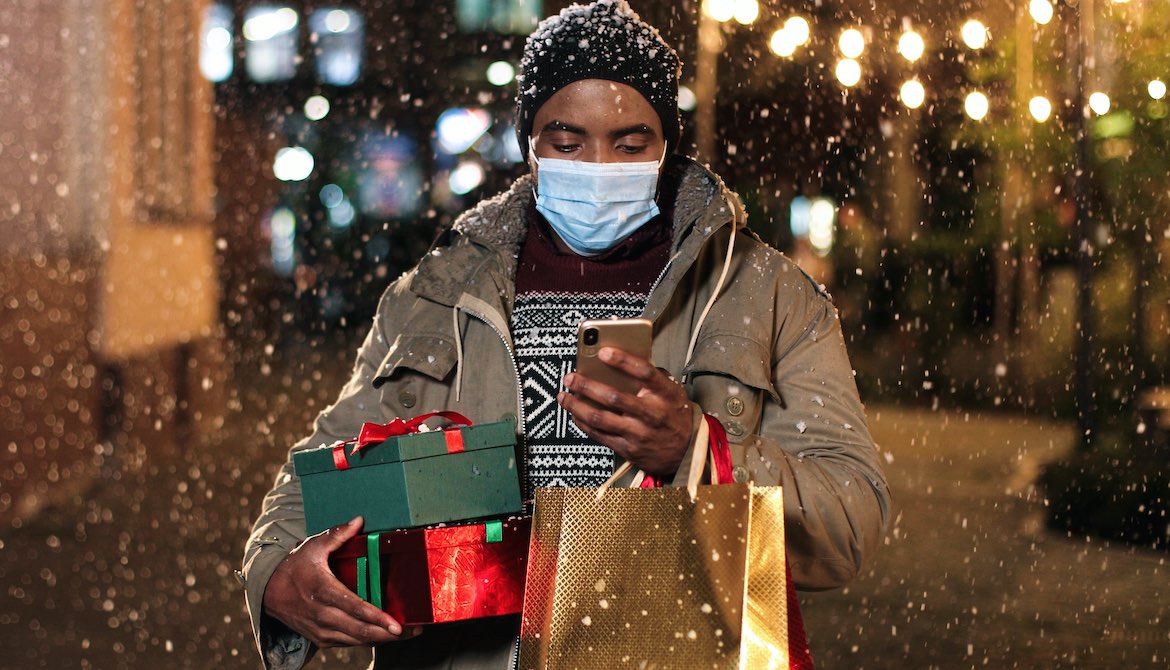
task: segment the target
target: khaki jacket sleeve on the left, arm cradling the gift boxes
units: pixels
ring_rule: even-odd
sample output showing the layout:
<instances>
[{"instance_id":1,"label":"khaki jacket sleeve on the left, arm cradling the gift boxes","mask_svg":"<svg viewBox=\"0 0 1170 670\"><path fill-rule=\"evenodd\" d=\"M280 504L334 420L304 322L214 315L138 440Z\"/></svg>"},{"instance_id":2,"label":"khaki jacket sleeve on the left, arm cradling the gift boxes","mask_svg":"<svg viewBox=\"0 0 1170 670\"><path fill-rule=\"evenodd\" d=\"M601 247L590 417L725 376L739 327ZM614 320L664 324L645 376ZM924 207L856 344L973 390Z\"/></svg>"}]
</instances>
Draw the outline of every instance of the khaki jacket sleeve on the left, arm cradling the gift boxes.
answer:
<instances>
[{"instance_id":1,"label":"khaki jacket sleeve on the left, arm cradling the gift boxes","mask_svg":"<svg viewBox=\"0 0 1170 670\"><path fill-rule=\"evenodd\" d=\"M292 454L347 440L358 434L363 422L387 419L383 416L380 395L372 381L388 348L383 313L391 292L383 298L378 317L358 350L353 372L337 401L317 416L312 434L289 451L273 489L264 496L245 547L242 574L248 614L264 668L295 670L316 651L308 640L263 612L264 589L273 572L305 539L301 481L292 468Z\"/></svg>"}]
</instances>

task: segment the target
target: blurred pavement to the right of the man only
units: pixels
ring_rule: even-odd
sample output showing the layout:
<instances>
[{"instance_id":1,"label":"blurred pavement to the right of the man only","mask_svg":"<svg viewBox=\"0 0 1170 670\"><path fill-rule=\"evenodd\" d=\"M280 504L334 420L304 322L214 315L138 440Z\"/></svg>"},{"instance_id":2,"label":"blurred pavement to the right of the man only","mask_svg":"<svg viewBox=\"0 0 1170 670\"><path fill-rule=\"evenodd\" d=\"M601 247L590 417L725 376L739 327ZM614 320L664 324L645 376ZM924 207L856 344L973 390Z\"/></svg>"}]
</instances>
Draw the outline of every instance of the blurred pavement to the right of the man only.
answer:
<instances>
[{"instance_id":1,"label":"blurred pavement to the right of the man only","mask_svg":"<svg viewBox=\"0 0 1170 670\"><path fill-rule=\"evenodd\" d=\"M862 579L803 599L818 668L1170 668L1170 555L1044 527L1072 424L869 408L895 518Z\"/></svg>"}]
</instances>

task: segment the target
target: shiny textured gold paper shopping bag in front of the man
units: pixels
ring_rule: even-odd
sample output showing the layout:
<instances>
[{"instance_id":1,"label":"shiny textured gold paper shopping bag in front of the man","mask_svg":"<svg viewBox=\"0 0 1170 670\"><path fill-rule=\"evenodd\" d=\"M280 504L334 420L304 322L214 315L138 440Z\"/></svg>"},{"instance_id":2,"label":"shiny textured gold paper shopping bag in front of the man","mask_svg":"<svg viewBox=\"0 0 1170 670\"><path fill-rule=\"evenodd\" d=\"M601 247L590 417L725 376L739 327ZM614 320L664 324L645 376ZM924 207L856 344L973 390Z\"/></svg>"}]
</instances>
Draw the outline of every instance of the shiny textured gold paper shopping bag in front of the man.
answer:
<instances>
[{"instance_id":1,"label":"shiny textured gold paper shopping bag in front of the man","mask_svg":"<svg viewBox=\"0 0 1170 670\"><path fill-rule=\"evenodd\" d=\"M786 580L779 486L541 489L519 670L811 668Z\"/></svg>"}]
</instances>

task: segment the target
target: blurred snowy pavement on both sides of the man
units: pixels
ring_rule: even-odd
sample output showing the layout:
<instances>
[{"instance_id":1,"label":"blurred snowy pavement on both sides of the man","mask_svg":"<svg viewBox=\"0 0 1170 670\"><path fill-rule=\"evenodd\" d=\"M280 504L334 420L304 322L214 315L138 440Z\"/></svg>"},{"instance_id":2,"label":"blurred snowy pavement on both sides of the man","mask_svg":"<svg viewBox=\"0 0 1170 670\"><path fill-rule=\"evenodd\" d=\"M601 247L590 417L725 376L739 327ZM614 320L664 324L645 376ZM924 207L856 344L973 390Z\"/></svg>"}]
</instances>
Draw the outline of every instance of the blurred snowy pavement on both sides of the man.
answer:
<instances>
[{"instance_id":1,"label":"blurred snowy pavement on both sides of the man","mask_svg":"<svg viewBox=\"0 0 1170 670\"><path fill-rule=\"evenodd\" d=\"M291 442L350 351L277 348L241 374L223 429L194 443L144 417L75 506L0 534L0 669L253 669L234 576ZM821 670L1166 668L1164 553L1047 532L1031 490L1071 426L872 406L896 518L873 568L803 598ZM350 662L347 657L352 657ZM364 668L353 652L314 668Z\"/></svg>"}]
</instances>

